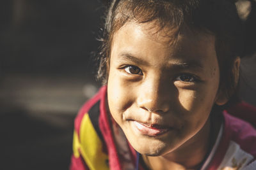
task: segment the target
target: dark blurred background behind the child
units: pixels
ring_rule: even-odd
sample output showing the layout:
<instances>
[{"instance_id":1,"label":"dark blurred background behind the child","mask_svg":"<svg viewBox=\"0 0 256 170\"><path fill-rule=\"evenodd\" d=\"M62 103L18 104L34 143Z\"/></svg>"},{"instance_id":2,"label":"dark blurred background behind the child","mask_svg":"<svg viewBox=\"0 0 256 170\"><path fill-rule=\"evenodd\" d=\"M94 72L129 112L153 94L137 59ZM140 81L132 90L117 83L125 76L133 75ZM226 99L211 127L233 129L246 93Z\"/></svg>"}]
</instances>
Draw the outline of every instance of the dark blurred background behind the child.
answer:
<instances>
[{"instance_id":1,"label":"dark blurred background behind the child","mask_svg":"<svg viewBox=\"0 0 256 170\"><path fill-rule=\"evenodd\" d=\"M0 169L68 169L73 121L93 96L91 53L104 8L96 0L1 0ZM256 106L256 55L241 96Z\"/></svg>"}]
</instances>

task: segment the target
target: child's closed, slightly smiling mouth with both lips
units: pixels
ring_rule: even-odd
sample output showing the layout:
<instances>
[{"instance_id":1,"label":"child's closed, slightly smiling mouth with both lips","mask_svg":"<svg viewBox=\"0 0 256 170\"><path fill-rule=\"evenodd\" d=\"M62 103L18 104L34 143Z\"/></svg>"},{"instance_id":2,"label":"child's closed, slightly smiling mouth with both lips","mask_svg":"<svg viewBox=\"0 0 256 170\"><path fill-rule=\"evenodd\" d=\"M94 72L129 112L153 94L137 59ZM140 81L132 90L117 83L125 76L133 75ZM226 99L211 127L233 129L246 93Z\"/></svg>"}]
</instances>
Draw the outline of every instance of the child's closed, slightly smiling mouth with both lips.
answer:
<instances>
[{"instance_id":1,"label":"child's closed, slightly smiling mouth with both lips","mask_svg":"<svg viewBox=\"0 0 256 170\"><path fill-rule=\"evenodd\" d=\"M166 127L157 124L144 124L137 121L132 121L132 127L134 127L135 131L140 132L146 136L159 136L161 134L165 134L170 131L172 127Z\"/></svg>"}]
</instances>

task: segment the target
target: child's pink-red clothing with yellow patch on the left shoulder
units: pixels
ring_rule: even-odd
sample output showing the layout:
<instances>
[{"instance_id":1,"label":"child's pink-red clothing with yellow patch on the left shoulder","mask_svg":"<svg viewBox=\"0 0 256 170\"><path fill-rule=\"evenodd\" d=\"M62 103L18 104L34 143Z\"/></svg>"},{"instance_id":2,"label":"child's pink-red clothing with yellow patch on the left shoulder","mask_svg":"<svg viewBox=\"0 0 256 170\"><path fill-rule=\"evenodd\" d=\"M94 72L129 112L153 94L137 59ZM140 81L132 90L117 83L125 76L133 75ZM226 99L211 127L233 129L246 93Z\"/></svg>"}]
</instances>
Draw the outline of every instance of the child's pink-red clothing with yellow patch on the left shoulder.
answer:
<instances>
[{"instance_id":1,"label":"child's pink-red clothing with yellow patch on the left shoulder","mask_svg":"<svg viewBox=\"0 0 256 170\"><path fill-rule=\"evenodd\" d=\"M106 89L106 86L102 87L84 104L76 117L71 170L143 169L138 164L140 154L132 148L122 129L108 115ZM247 106L241 104L238 108ZM246 115L256 114L253 107L246 111L251 111ZM227 111L223 112L223 117L218 138L202 169L256 169L256 130Z\"/></svg>"}]
</instances>

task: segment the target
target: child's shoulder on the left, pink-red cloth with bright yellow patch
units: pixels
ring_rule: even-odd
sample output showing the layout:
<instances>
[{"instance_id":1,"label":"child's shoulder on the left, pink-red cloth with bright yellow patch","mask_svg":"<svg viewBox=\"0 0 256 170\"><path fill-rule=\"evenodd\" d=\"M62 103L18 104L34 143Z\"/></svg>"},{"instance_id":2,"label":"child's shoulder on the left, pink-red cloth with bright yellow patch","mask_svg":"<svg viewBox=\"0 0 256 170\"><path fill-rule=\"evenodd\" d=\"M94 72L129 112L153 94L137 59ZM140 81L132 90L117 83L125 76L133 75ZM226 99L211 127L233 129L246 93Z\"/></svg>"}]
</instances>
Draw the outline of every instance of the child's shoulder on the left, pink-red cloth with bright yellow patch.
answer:
<instances>
[{"instance_id":1,"label":"child's shoulder on the left, pink-red cloth with bright yellow patch","mask_svg":"<svg viewBox=\"0 0 256 170\"><path fill-rule=\"evenodd\" d=\"M100 117L106 112L106 87L79 110L74 124L71 169L109 169L108 151L100 129Z\"/></svg>"}]
</instances>

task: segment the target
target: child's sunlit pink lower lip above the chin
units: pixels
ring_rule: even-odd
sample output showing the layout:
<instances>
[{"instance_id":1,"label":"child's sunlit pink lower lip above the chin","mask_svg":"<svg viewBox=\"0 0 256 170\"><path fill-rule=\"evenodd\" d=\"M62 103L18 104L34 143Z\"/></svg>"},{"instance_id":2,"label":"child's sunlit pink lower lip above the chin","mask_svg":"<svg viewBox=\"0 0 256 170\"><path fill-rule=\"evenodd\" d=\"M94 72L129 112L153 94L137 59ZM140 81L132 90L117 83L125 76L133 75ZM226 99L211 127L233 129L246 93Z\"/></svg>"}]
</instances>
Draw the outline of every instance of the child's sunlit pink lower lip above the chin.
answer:
<instances>
[{"instance_id":1,"label":"child's sunlit pink lower lip above the chin","mask_svg":"<svg viewBox=\"0 0 256 170\"><path fill-rule=\"evenodd\" d=\"M147 136L159 136L170 131L169 128L155 128L155 127L148 127L147 125L140 124L139 122L132 121L133 126L136 130L140 131L141 134Z\"/></svg>"}]
</instances>

